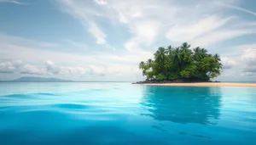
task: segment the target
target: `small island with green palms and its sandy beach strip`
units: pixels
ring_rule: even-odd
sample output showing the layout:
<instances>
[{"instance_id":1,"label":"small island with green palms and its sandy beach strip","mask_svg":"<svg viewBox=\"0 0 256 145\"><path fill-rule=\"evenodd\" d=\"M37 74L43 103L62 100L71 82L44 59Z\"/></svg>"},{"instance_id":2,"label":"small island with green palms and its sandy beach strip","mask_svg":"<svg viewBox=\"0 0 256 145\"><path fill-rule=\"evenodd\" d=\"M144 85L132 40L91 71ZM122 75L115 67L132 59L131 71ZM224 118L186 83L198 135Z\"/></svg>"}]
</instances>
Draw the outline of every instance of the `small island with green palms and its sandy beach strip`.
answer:
<instances>
[{"instance_id":1,"label":"small island with green palms and its sandy beach strip","mask_svg":"<svg viewBox=\"0 0 256 145\"><path fill-rule=\"evenodd\" d=\"M219 83L211 79L221 74L220 56L207 52L206 48L191 46L183 42L180 47L159 47L154 59L142 61L139 69L145 81L133 84L155 86L246 86L256 83Z\"/></svg>"}]
</instances>

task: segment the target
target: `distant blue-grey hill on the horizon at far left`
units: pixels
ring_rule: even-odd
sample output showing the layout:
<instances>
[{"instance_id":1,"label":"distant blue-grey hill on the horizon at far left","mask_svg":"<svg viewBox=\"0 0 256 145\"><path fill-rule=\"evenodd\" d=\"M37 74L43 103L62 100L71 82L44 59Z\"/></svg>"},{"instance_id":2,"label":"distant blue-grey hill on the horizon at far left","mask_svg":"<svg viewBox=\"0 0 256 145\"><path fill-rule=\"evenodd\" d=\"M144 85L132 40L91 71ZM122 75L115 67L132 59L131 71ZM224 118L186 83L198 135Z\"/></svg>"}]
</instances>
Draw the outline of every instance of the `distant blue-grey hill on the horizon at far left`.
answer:
<instances>
[{"instance_id":1,"label":"distant blue-grey hill on the horizon at far left","mask_svg":"<svg viewBox=\"0 0 256 145\"><path fill-rule=\"evenodd\" d=\"M20 77L11 82L72 82L70 80L62 80L57 78L44 78L44 77Z\"/></svg>"}]
</instances>

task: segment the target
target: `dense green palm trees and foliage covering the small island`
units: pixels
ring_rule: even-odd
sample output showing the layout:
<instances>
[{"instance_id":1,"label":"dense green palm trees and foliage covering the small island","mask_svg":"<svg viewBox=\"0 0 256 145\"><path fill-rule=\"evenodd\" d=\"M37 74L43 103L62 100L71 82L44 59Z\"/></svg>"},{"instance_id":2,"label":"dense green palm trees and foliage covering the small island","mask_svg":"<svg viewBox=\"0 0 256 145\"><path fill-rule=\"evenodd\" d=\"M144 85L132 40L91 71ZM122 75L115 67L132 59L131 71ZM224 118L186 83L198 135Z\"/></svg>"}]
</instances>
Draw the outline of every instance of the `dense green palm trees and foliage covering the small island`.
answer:
<instances>
[{"instance_id":1,"label":"dense green palm trees and foliage covering the small island","mask_svg":"<svg viewBox=\"0 0 256 145\"><path fill-rule=\"evenodd\" d=\"M180 47L159 47L154 59L141 62L139 68L147 80L201 80L209 81L220 75L222 64L218 54L209 54L207 49L184 42Z\"/></svg>"}]
</instances>

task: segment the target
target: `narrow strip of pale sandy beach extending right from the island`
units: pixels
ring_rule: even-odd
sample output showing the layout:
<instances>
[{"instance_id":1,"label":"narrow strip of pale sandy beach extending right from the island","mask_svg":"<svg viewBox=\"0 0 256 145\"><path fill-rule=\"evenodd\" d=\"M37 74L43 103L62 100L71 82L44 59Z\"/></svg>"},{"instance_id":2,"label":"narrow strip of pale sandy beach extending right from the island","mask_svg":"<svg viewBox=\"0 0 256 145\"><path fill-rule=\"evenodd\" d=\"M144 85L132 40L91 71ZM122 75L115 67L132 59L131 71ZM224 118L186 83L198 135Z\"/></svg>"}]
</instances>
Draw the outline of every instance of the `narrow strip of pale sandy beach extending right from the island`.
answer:
<instances>
[{"instance_id":1,"label":"narrow strip of pale sandy beach extending right from the island","mask_svg":"<svg viewBox=\"0 0 256 145\"><path fill-rule=\"evenodd\" d=\"M160 83L160 84L143 84L152 86L239 86L239 87L256 87L256 83L227 83L227 82L196 82L196 83Z\"/></svg>"}]
</instances>

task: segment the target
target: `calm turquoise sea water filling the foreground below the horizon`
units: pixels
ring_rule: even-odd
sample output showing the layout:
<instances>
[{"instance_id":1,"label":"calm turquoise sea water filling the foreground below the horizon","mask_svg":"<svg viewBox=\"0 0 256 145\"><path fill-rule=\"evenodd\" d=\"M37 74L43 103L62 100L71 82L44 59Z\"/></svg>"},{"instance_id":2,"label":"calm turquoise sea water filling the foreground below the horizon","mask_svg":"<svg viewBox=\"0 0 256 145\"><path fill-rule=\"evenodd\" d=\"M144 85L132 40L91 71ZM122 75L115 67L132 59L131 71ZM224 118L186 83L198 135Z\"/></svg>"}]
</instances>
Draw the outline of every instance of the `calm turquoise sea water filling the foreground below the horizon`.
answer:
<instances>
[{"instance_id":1,"label":"calm turquoise sea water filling the foreground below the horizon","mask_svg":"<svg viewBox=\"0 0 256 145\"><path fill-rule=\"evenodd\" d=\"M0 144L255 145L256 89L0 83Z\"/></svg>"}]
</instances>

